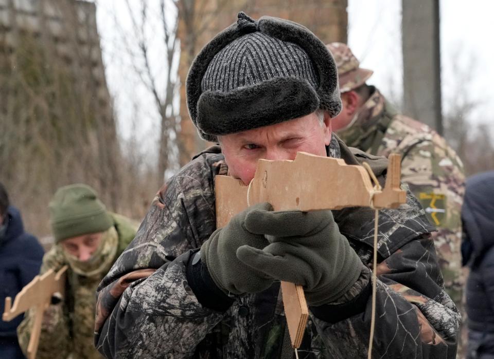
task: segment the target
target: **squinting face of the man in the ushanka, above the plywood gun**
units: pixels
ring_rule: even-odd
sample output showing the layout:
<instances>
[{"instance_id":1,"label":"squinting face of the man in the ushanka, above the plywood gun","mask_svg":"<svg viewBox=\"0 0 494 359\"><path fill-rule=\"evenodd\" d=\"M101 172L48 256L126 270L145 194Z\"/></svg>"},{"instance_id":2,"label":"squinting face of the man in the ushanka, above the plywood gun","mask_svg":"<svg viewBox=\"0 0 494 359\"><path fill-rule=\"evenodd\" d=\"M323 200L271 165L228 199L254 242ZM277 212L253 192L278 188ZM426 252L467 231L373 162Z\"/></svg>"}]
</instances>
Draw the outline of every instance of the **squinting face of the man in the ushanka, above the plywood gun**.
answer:
<instances>
[{"instance_id":1,"label":"squinting face of the man in the ushanka, above the plywood gun","mask_svg":"<svg viewBox=\"0 0 494 359\"><path fill-rule=\"evenodd\" d=\"M294 160L297 152L326 156L331 141L331 119L321 123L315 112L294 120L224 135L220 144L230 175L249 184L257 160Z\"/></svg>"}]
</instances>

